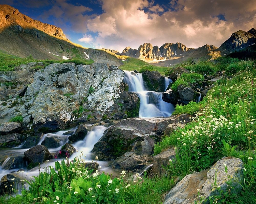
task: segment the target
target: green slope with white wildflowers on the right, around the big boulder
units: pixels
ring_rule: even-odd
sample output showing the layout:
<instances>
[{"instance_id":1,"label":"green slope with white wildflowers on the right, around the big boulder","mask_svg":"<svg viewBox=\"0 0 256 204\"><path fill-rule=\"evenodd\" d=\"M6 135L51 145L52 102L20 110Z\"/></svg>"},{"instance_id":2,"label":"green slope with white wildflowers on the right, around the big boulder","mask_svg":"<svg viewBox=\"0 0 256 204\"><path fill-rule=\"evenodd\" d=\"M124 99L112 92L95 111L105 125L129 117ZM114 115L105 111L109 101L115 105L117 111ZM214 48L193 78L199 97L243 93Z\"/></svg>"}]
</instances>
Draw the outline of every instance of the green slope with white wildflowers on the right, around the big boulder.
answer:
<instances>
[{"instance_id":1,"label":"green slope with white wildflowers on the right, around the big boulder","mask_svg":"<svg viewBox=\"0 0 256 204\"><path fill-rule=\"evenodd\" d=\"M217 81L202 102L177 105L174 114L189 113L193 117L184 129L173 132L159 142L154 152L158 154L170 147L176 148L176 161L171 161L169 166L170 177L184 177L207 169L223 156L242 159L245 177L241 181L241 193L221 192L211 197L210 201L255 203L256 62L225 60L229 63L222 62L222 65L228 73L240 71L231 79ZM205 70L204 66L190 66L190 70L195 68Z\"/></svg>"}]
</instances>

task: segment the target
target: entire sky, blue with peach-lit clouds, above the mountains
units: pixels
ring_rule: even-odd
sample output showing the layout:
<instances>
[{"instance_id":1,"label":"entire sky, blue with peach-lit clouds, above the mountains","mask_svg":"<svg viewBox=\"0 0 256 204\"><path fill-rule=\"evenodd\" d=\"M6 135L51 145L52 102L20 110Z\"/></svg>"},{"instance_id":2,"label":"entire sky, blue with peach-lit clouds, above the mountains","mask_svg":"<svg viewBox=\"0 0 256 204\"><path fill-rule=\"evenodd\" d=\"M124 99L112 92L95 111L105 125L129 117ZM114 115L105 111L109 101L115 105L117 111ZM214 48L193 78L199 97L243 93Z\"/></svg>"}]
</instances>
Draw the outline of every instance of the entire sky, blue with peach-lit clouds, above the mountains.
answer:
<instances>
[{"instance_id":1,"label":"entire sky, blue with peach-lit clouds, above the mountains","mask_svg":"<svg viewBox=\"0 0 256 204\"><path fill-rule=\"evenodd\" d=\"M221 46L233 32L256 28L256 0L0 0L60 27L86 48L122 52L143 43Z\"/></svg>"}]
</instances>

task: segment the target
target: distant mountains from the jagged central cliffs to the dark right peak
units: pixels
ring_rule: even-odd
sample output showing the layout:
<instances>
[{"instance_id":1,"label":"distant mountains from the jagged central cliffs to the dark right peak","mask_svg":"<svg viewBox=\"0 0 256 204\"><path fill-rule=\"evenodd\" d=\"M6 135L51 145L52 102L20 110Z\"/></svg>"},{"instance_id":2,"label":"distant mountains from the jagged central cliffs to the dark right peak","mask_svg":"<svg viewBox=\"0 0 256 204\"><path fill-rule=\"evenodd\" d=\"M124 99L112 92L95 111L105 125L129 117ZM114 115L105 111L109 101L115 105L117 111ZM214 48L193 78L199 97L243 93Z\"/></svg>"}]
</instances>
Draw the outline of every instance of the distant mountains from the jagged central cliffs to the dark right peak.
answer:
<instances>
[{"instance_id":1,"label":"distant mountains from the jagged central cliffs to the dark right peak","mask_svg":"<svg viewBox=\"0 0 256 204\"><path fill-rule=\"evenodd\" d=\"M180 57L209 58L218 57L230 52L239 51L256 43L256 30L252 28L250 31L237 31L227 39L221 47L217 48L213 45L204 45L200 48L188 48L181 43L166 43L160 48L150 43L144 43L138 50L127 47L120 55L138 58L147 62L172 60Z\"/></svg>"}]
</instances>

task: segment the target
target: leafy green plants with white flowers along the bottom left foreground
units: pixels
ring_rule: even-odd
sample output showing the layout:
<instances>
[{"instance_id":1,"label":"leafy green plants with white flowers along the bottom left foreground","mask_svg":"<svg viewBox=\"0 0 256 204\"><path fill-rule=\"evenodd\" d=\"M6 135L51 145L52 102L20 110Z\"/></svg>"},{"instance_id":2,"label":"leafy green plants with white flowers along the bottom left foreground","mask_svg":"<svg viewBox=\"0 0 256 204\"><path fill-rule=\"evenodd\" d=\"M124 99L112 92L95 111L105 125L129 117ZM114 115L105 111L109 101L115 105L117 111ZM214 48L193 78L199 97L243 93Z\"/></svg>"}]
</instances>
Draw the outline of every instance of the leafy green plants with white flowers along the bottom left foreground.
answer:
<instances>
[{"instance_id":1,"label":"leafy green plants with white flowers along the bottom left foreground","mask_svg":"<svg viewBox=\"0 0 256 204\"><path fill-rule=\"evenodd\" d=\"M154 204L161 203L163 194L174 185L169 177L149 179L145 172L142 182L139 174L129 175L122 171L119 177L112 178L108 174L100 174L98 170L88 170L84 165L81 152L71 162L66 158L61 164L56 162L55 167L39 167L38 176L30 181L22 180L29 184L28 189L23 188L22 194L16 197L1 197L0 203ZM15 186L12 191L14 194L17 192Z\"/></svg>"}]
</instances>

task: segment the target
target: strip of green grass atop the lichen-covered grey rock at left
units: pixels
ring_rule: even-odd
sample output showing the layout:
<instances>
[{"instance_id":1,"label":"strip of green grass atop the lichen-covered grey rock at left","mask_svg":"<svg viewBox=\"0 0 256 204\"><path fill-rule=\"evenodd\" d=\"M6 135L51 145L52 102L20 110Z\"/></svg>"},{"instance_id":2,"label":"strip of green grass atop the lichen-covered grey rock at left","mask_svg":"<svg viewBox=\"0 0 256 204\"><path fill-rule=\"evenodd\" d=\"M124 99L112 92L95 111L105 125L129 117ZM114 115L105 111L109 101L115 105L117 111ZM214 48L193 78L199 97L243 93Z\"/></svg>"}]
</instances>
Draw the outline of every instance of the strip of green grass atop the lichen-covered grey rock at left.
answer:
<instances>
[{"instance_id":1,"label":"strip of green grass atop the lichen-covered grey rock at left","mask_svg":"<svg viewBox=\"0 0 256 204\"><path fill-rule=\"evenodd\" d=\"M35 60L31 56L28 56L26 58L16 57L10 54L7 54L0 50L0 71L12 71L15 67L21 65L21 64L28 64L29 62L43 62L44 67L48 66L49 64L53 63L68 63L73 62L76 65L78 64L92 64L93 60L83 60L81 58L75 58L72 60ZM36 68L42 68L37 66Z\"/></svg>"}]
</instances>

